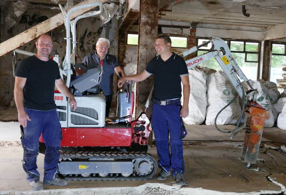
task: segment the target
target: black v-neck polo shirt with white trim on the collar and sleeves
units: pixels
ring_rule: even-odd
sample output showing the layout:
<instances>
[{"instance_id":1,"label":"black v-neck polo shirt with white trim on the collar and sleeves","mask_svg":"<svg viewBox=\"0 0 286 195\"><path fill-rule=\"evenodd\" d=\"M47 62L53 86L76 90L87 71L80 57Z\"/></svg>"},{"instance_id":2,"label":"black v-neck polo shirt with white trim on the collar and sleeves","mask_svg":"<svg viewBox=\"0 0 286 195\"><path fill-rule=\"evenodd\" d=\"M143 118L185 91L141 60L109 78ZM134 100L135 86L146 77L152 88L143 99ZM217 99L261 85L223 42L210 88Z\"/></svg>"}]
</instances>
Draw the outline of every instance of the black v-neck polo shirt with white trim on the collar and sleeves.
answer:
<instances>
[{"instance_id":1,"label":"black v-neck polo shirt with white trim on the collar and sleeves","mask_svg":"<svg viewBox=\"0 0 286 195\"><path fill-rule=\"evenodd\" d=\"M154 74L154 98L161 101L181 98L181 76L189 74L182 57L173 52L164 62L158 55L150 60L145 71Z\"/></svg>"}]
</instances>

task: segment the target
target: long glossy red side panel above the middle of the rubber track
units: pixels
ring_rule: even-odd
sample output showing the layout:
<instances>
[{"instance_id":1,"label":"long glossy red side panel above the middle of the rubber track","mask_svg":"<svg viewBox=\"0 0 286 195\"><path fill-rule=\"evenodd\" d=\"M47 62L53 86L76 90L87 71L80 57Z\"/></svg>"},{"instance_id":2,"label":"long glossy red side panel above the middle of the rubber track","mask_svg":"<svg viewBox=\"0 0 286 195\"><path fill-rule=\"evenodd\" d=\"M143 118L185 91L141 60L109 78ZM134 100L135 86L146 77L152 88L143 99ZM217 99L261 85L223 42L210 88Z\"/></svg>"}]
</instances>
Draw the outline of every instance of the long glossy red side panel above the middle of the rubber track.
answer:
<instances>
[{"instance_id":1,"label":"long glossy red side panel above the middle of the rubber track","mask_svg":"<svg viewBox=\"0 0 286 195\"><path fill-rule=\"evenodd\" d=\"M78 146L131 146L132 128L79 128Z\"/></svg>"}]
</instances>

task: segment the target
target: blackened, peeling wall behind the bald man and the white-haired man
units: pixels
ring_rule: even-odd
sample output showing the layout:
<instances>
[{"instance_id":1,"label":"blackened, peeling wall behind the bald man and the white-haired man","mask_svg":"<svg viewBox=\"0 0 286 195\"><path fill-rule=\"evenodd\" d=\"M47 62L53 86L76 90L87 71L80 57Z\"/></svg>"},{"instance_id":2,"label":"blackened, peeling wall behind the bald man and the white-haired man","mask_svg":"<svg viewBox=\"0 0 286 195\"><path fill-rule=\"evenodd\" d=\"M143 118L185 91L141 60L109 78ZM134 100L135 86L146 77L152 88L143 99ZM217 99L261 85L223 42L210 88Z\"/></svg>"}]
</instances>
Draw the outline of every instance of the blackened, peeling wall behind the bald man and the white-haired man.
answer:
<instances>
[{"instance_id":1,"label":"blackened, peeling wall behind the bald man and the white-haired man","mask_svg":"<svg viewBox=\"0 0 286 195\"><path fill-rule=\"evenodd\" d=\"M57 9L27 9L20 17L19 23L15 24L11 28L8 28L5 25L5 17L9 13L10 5L6 5L6 7L1 7L1 39L0 41L6 41L11 37L45 21L46 19L58 14L60 11ZM110 20L110 49L109 53L112 55L118 55L118 21L114 17ZM95 17L81 19L77 23L77 42L78 42L78 62L81 62L85 55L88 53L95 51L95 44L98 38L105 37L105 27L106 24L103 25L102 21ZM51 31L51 36L53 38L53 49L55 49L61 59L63 60L65 57L66 50L66 41L64 39L65 27L61 26L57 29ZM31 41L30 43L18 48L20 50L25 50L33 53L37 53L37 49L35 47L35 41ZM50 57L53 56L52 52ZM27 56L17 54L16 65L21 61L21 59ZM13 77L13 67L12 67L12 58L13 52L8 53L5 56L0 57L0 105L5 106L9 105L10 101L13 97L14 90L14 82L15 78Z\"/></svg>"}]
</instances>

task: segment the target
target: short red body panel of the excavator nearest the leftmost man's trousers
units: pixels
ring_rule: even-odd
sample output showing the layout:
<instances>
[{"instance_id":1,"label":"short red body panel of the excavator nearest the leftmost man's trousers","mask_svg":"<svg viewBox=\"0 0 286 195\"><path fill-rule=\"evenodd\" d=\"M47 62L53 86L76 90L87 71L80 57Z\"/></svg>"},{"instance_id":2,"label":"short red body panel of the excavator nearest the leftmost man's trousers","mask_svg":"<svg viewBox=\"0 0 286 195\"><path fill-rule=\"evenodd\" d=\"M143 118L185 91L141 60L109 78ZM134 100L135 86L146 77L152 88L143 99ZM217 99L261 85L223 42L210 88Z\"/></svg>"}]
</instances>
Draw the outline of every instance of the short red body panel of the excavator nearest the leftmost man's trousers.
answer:
<instances>
[{"instance_id":1,"label":"short red body panel of the excavator nearest the leftmost man's trousers","mask_svg":"<svg viewBox=\"0 0 286 195\"><path fill-rule=\"evenodd\" d=\"M78 146L78 128L61 128L61 146Z\"/></svg>"}]
</instances>

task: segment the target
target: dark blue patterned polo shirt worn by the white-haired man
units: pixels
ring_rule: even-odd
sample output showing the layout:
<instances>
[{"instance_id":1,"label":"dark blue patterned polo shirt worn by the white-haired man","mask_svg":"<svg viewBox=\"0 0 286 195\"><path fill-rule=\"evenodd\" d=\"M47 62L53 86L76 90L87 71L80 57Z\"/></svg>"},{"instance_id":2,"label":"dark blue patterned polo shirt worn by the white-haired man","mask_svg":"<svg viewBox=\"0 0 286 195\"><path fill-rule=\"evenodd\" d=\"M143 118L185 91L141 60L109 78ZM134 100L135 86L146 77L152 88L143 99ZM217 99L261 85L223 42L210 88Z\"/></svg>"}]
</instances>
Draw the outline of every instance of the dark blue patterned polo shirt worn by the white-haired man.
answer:
<instances>
[{"instance_id":1,"label":"dark blue patterned polo shirt worn by the white-haired man","mask_svg":"<svg viewBox=\"0 0 286 195\"><path fill-rule=\"evenodd\" d=\"M100 66L100 59L97 56L96 51L92 54L93 60ZM90 55L86 55L82 63L88 67L90 64ZM103 60L103 72L102 72L102 79L100 82L100 89L103 91L104 95L112 95L112 88L113 88L113 75L114 75L114 68L118 67L119 63L114 55L106 54Z\"/></svg>"}]
</instances>

